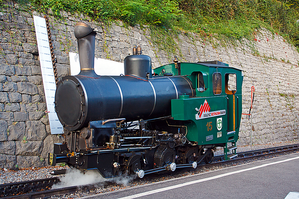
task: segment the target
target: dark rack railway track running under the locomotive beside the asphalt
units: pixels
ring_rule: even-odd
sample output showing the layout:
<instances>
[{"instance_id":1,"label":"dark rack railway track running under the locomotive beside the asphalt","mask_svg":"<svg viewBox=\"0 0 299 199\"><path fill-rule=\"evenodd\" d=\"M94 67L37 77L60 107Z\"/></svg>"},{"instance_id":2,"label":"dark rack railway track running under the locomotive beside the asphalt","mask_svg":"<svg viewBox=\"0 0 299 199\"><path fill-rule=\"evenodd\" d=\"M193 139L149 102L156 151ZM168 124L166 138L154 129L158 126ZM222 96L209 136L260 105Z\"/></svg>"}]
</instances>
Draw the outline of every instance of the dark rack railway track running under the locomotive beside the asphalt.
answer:
<instances>
[{"instance_id":1,"label":"dark rack railway track running under the locomotive beside the asphalt","mask_svg":"<svg viewBox=\"0 0 299 199\"><path fill-rule=\"evenodd\" d=\"M267 155L276 155L285 152L292 152L299 150L299 144L292 144L287 146L279 146L267 149L259 149L254 151L239 152L238 158L223 161L223 155L215 156L215 162L210 164L199 164L197 169L208 168L212 166L219 166L228 163L240 162L245 160L250 160L253 158L263 157ZM176 171L178 172L178 171ZM60 180L58 177L46 178L40 180L7 183L0 185L0 197L2 199L35 199L35 198L45 198L53 195L62 195L66 193L76 192L81 189L90 189L92 185L83 186L70 186L59 189L51 189L54 183L58 183ZM108 182L108 184L112 184ZM107 185L106 185L107 186Z\"/></svg>"}]
</instances>

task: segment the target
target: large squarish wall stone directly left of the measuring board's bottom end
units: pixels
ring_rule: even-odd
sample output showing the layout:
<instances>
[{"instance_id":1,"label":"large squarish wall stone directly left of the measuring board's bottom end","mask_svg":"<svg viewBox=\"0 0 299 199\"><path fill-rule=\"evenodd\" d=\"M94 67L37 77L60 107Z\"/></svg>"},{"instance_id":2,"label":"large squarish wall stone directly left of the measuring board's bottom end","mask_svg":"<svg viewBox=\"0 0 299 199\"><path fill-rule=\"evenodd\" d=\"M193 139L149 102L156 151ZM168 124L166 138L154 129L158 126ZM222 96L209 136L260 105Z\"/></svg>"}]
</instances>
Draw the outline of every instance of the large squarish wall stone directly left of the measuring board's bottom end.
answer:
<instances>
[{"instance_id":1,"label":"large squarish wall stone directly left of the measuring board's bottom end","mask_svg":"<svg viewBox=\"0 0 299 199\"><path fill-rule=\"evenodd\" d=\"M37 141L45 139L47 132L45 124L41 121L26 121L25 136L28 141Z\"/></svg>"}]
</instances>

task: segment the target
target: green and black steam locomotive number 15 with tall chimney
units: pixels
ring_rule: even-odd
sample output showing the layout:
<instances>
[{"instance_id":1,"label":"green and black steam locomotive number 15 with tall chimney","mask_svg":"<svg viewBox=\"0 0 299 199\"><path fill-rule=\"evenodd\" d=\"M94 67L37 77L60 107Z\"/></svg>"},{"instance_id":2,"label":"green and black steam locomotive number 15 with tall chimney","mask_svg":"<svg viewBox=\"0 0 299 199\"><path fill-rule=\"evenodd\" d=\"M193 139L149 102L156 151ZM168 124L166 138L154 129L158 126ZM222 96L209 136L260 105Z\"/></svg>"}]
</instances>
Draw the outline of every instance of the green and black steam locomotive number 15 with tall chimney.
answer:
<instances>
[{"instance_id":1,"label":"green and black steam locomotive number 15 with tall chimney","mask_svg":"<svg viewBox=\"0 0 299 199\"><path fill-rule=\"evenodd\" d=\"M175 59L152 72L151 58L134 46L124 75L100 76L94 72L96 33L78 22L74 34L81 72L57 85L54 104L65 141L54 144L49 165L142 178L211 163L219 146L225 159L237 156L241 70Z\"/></svg>"}]
</instances>

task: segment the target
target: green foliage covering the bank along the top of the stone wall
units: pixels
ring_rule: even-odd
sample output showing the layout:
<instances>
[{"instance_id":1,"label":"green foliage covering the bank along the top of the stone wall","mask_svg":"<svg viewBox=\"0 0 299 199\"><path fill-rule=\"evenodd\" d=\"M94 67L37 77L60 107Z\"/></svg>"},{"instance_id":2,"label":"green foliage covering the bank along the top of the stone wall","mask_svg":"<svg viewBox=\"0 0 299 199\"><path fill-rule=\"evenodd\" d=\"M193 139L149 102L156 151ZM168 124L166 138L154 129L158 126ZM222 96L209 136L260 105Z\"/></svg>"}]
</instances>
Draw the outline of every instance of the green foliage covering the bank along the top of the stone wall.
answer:
<instances>
[{"instance_id":1,"label":"green foliage covering the bank along the top of the stone wall","mask_svg":"<svg viewBox=\"0 0 299 199\"><path fill-rule=\"evenodd\" d=\"M64 10L104 22L121 20L203 37L250 39L257 28L265 27L299 47L299 0L19 0L26 1L32 9L55 17Z\"/></svg>"}]
</instances>

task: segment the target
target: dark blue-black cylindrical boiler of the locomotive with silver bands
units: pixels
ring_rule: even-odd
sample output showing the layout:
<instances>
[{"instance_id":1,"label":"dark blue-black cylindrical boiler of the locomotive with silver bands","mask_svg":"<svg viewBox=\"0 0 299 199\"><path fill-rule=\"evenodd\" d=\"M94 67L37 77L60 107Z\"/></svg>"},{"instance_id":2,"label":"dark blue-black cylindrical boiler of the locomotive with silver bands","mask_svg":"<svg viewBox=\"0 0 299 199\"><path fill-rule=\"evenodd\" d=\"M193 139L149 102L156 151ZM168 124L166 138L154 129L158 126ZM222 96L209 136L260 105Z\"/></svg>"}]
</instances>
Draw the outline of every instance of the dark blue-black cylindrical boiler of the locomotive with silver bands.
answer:
<instances>
[{"instance_id":1,"label":"dark blue-black cylindrical boiler of the locomotive with silver bands","mask_svg":"<svg viewBox=\"0 0 299 199\"><path fill-rule=\"evenodd\" d=\"M89 121L126 118L126 121L171 115L171 99L195 96L186 77L66 76L57 85L55 111L68 130L87 127Z\"/></svg>"}]
</instances>

